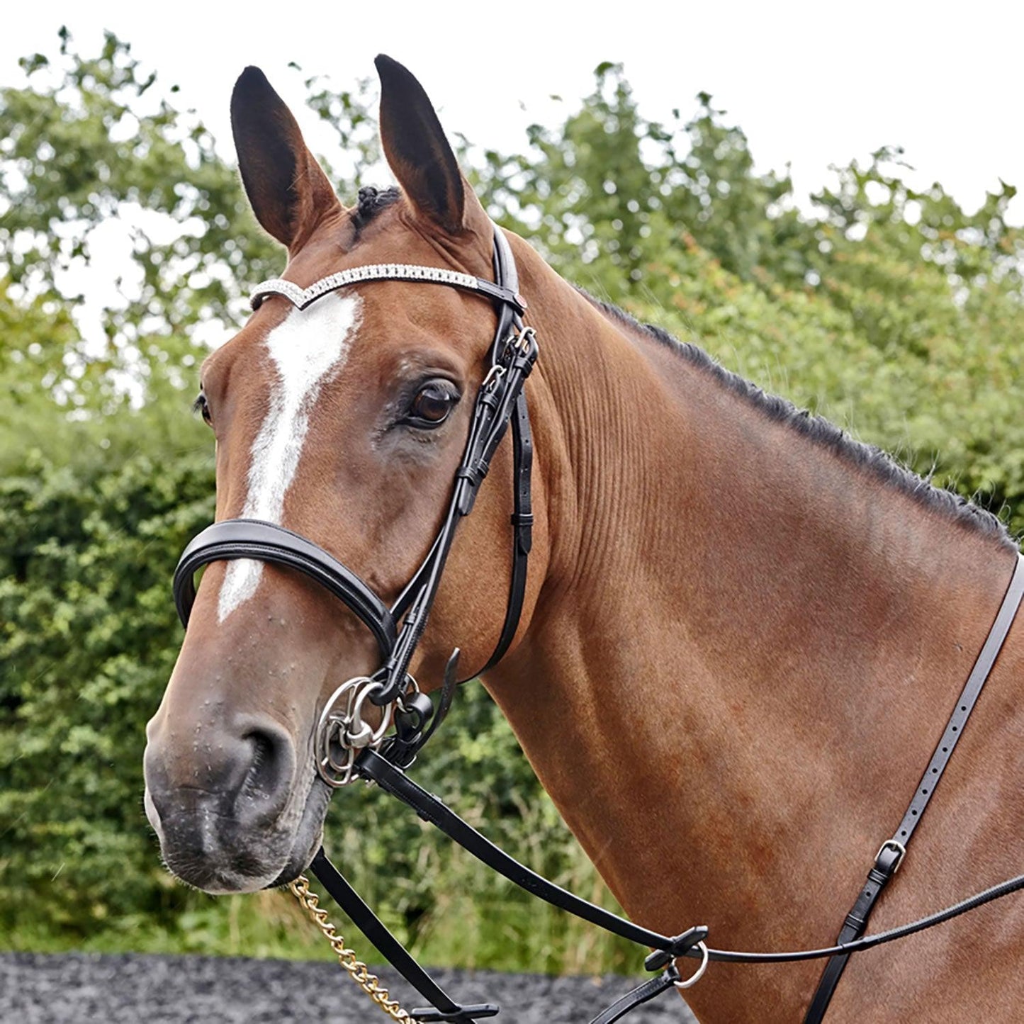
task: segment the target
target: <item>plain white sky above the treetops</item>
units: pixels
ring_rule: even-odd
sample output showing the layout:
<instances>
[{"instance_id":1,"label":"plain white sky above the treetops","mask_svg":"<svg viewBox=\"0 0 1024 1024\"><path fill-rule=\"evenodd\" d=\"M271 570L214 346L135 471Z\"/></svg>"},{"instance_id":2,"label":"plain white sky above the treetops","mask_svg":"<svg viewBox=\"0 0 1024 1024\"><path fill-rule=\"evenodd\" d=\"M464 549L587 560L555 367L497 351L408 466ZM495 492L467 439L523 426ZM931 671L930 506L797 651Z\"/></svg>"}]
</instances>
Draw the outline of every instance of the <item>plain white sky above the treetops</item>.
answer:
<instances>
[{"instance_id":1,"label":"plain white sky above the treetops","mask_svg":"<svg viewBox=\"0 0 1024 1024\"><path fill-rule=\"evenodd\" d=\"M558 118L550 94L582 97L593 69L614 60L648 118L665 119L673 106L688 116L695 94L711 92L746 132L761 169L792 162L798 198L829 179L829 164L888 143L906 150L915 184L940 180L968 209L999 177L1024 191L1020 0L43 0L5 17L0 83L19 80L18 56L54 52L61 24L86 52L104 28L130 41L165 87L181 87L181 104L195 106L224 147L231 85L247 63L262 67L296 109L302 90L288 61L345 88L373 75L374 55L386 52L423 82L449 132L509 152L523 144L526 124ZM299 113L299 122L311 128L313 118ZM1024 222L1024 197L1012 219Z\"/></svg>"}]
</instances>

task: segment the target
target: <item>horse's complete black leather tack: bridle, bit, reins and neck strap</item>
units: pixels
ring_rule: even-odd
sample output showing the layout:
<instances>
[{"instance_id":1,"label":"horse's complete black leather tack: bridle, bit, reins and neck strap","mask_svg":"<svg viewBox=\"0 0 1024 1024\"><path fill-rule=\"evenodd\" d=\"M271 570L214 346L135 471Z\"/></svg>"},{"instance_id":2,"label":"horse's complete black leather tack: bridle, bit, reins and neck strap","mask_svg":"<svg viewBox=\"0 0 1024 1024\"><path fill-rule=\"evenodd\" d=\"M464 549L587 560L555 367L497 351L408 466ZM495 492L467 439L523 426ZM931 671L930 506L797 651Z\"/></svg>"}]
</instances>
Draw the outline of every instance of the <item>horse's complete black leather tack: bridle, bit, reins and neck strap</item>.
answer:
<instances>
[{"instance_id":1,"label":"horse's complete black leather tack: bridle, bit, reins and neck strap","mask_svg":"<svg viewBox=\"0 0 1024 1024\"><path fill-rule=\"evenodd\" d=\"M876 855L867 881L835 945L767 953L715 949L705 941L709 932L705 926L689 928L676 936L660 935L574 896L495 846L406 774L406 769L413 764L452 706L460 682L459 648L453 651L445 668L436 709L430 697L420 692L415 679L409 674L409 666L426 628L458 524L472 511L492 458L510 425L514 511L511 516L512 570L505 621L486 665L467 679L475 678L501 659L515 637L522 611L532 526L532 440L523 384L537 360L538 345L532 329L523 324L526 303L518 293L515 260L504 233L497 225L494 228L494 269L495 281L490 282L438 267L384 263L343 270L315 282L307 289L278 279L257 286L251 298L253 309L257 309L267 296L281 295L301 310L339 288L366 282L409 281L445 285L494 302L498 326L488 349L486 373L476 395L469 436L444 519L426 558L394 604L388 607L355 572L312 541L275 523L226 519L200 532L185 548L178 562L174 573L174 600L182 625L187 627L196 600L196 571L203 565L224 559L253 558L284 565L309 577L342 601L374 635L382 663L372 676L347 680L325 705L315 734L315 765L321 778L332 788L355 778L376 782L477 859L531 895L615 935L653 948L644 966L648 971L657 972L656 976L628 992L594 1018L592 1024L612 1024L630 1010L669 988L689 987L699 980L711 962L780 964L827 958L805 1018L805 1024L819 1024L852 953L941 924L1024 888L1024 874L1018 876L928 918L888 932L864 936L870 912L906 855L910 838L952 756L1024 597L1024 556L1017 558L999 611L910 805L893 837L883 843ZM379 720L373 726L362 719L362 709L368 701L380 709ZM381 955L430 1004L429 1008L412 1011L416 1020L472 1024L477 1018L493 1017L498 1013L499 1008L494 1004L459 1004L437 985L359 898L327 858L323 848L317 851L310 866ZM697 970L685 981L677 966L677 961L683 957L700 962Z\"/></svg>"}]
</instances>

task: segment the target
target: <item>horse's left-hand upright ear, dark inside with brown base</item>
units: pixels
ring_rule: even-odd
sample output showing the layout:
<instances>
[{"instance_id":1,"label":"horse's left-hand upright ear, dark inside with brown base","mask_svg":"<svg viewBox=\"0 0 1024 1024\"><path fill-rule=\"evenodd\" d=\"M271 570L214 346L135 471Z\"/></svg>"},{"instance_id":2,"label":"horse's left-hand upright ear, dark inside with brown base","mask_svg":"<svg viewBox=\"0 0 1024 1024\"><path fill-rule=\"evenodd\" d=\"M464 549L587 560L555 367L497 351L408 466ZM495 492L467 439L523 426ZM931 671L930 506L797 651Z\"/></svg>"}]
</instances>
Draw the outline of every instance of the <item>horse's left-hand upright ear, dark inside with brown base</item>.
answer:
<instances>
[{"instance_id":1,"label":"horse's left-hand upright ear, dark inside with brown base","mask_svg":"<svg viewBox=\"0 0 1024 1024\"><path fill-rule=\"evenodd\" d=\"M341 204L292 112L259 68L247 68L234 83L231 132L256 219L290 250L298 249Z\"/></svg>"}]
</instances>

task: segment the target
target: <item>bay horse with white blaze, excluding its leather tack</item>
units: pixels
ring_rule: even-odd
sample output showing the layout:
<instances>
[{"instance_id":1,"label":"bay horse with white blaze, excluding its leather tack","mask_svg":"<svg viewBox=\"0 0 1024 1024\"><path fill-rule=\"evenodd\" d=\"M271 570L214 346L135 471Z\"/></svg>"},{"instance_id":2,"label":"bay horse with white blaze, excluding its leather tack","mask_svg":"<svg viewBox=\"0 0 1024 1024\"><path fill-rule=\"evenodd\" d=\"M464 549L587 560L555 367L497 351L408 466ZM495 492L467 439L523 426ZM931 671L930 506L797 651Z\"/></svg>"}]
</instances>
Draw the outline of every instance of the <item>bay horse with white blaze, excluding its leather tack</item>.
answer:
<instances>
[{"instance_id":1,"label":"bay horse with white blaze, excluding its leather tack","mask_svg":"<svg viewBox=\"0 0 1024 1024\"><path fill-rule=\"evenodd\" d=\"M296 290L367 265L492 274L493 225L413 76L378 58L400 189L344 207L256 69L231 101L242 179ZM918 783L1014 571L998 520L800 414L694 346L561 280L505 236L543 354L522 611L484 685L637 922L719 944L831 943ZM347 279L346 279L347 280ZM264 296L205 361L218 520L313 540L394 600L427 555L497 313L380 280L305 309ZM509 591L509 444L452 548L412 664L483 665ZM498 481L498 482L496 482ZM338 681L378 664L306 577L216 561L147 729L145 807L168 867L210 893L298 876L331 788L314 765ZM1013 874L1024 835L1024 634L1011 629L872 930ZM1024 904L854 957L829 1024L1017 1019ZM715 965L701 1021L796 1021L820 966Z\"/></svg>"}]
</instances>

